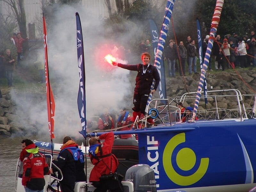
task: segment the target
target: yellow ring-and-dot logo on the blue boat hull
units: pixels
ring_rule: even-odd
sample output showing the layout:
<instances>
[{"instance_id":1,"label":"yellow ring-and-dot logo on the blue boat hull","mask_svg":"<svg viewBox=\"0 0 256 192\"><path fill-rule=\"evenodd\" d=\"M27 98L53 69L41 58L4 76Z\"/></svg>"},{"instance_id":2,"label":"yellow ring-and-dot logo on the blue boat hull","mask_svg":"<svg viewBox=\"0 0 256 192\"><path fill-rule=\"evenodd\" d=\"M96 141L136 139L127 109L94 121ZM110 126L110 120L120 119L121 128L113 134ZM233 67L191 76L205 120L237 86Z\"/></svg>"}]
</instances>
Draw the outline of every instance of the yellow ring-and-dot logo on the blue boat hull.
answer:
<instances>
[{"instance_id":1,"label":"yellow ring-and-dot logo on the blue boat hull","mask_svg":"<svg viewBox=\"0 0 256 192\"><path fill-rule=\"evenodd\" d=\"M168 141L163 153L163 166L166 175L172 182L181 186L188 186L199 181L205 174L209 165L209 158L201 158L200 165L195 173L183 176L177 173L172 166L172 152L180 143L185 142L185 133L179 133ZM176 163L183 171L191 170L196 164L196 154L190 148L182 148L177 153Z\"/></svg>"}]
</instances>

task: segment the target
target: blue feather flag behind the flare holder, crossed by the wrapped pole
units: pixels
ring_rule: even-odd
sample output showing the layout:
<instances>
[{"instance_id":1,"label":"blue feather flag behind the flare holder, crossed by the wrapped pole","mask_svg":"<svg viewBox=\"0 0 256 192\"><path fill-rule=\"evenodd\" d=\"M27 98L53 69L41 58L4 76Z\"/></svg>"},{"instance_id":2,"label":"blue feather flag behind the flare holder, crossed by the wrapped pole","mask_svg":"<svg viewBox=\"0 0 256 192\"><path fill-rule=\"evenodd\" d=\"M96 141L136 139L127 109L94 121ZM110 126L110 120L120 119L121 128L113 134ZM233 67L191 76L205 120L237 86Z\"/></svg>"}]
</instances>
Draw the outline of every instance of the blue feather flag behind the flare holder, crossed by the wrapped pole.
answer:
<instances>
[{"instance_id":1,"label":"blue feather flag behind the flare holder, crossed by the wrapped pole","mask_svg":"<svg viewBox=\"0 0 256 192\"><path fill-rule=\"evenodd\" d=\"M157 50L157 44L158 44L158 38L159 38L159 30L156 26L155 21L149 20L149 26L150 26L150 31L151 31L151 42L152 42L152 47L154 50L154 58L156 59L156 50ZM166 85L165 85L165 73L164 73L164 62L163 62L163 55L161 60L155 60L155 66L158 70L158 73L160 75L160 83L158 87L158 92L160 99L166 99Z\"/></svg>"}]
</instances>

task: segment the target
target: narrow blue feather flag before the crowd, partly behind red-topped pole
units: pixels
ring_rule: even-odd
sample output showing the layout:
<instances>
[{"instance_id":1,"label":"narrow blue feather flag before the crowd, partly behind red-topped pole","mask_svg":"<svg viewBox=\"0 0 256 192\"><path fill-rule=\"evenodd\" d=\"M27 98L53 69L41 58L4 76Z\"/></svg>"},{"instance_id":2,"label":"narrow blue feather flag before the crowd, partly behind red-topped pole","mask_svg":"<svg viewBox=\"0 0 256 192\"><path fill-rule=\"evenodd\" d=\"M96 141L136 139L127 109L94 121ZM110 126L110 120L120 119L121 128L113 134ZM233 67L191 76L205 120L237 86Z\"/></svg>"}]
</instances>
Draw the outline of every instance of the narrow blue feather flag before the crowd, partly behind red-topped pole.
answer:
<instances>
[{"instance_id":1,"label":"narrow blue feather flag before the crowd, partly behind red-topped pole","mask_svg":"<svg viewBox=\"0 0 256 192\"><path fill-rule=\"evenodd\" d=\"M201 26L200 26L200 22L198 19L196 19L196 26L197 26L197 39L198 39L198 50L199 50L199 61L200 61L200 68L201 68L201 72L203 69L203 39L202 39L202 32L201 32ZM206 84L206 78L204 78L204 102L205 104L208 103L207 100L207 84Z\"/></svg>"}]
</instances>

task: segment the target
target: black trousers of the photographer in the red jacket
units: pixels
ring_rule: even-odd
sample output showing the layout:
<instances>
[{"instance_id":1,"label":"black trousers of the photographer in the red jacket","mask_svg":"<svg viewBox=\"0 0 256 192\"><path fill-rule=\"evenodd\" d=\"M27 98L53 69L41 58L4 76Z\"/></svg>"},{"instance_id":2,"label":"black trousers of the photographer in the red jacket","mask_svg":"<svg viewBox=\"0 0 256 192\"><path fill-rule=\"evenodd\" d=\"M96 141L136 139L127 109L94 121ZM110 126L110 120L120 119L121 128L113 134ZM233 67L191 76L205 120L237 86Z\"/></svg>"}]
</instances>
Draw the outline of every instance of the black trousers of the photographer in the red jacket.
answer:
<instances>
[{"instance_id":1,"label":"black trousers of the photographer in the red jacket","mask_svg":"<svg viewBox=\"0 0 256 192\"><path fill-rule=\"evenodd\" d=\"M115 180L115 179L101 180L97 182L92 182L92 185L96 187L94 192L106 192L108 189L111 192L124 191L124 187L121 183L121 180Z\"/></svg>"}]
</instances>

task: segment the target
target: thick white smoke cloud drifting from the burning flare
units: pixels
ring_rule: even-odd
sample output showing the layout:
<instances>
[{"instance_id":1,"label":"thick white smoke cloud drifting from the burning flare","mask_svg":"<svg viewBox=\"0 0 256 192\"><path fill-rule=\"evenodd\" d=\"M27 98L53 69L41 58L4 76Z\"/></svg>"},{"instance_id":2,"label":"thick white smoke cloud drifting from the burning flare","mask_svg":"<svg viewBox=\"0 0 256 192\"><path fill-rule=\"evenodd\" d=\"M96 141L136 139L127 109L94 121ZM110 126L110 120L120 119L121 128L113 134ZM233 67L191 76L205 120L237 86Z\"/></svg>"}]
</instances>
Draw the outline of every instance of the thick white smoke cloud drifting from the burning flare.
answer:
<instances>
[{"instance_id":1,"label":"thick white smoke cloud drifting from the burning flare","mask_svg":"<svg viewBox=\"0 0 256 192\"><path fill-rule=\"evenodd\" d=\"M80 14L84 38L87 119L90 119L90 116L100 116L103 108L111 108L118 112L120 107L132 105L132 98L129 103L124 102L125 96L132 97L133 94L133 85L131 86L129 78L130 71L117 66L105 68L106 66L102 66L102 63L110 64L106 64L102 56L100 56L102 58L97 58L97 54L104 51L99 50L103 45L102 42L106 42L106 39L102 37L103 22L93 16L93 10L84 12L83 8L78 5L76 7L60 6L55 10L53 18L47 18L54 23L51 30L47 30L47 44L49 76L55 100L55 137L70 134L81 136L78 133L82 126L77 109L79 76L76 52L76 12ZM130 31L133 33L136 29L131 28ZM130 38L131 34L122 35L123 43L129 40L125 39L125 36ZM118 43L122 44L122 42ZM44 54L44 51L41 54ZM99 60L101 60L100 63ZM127 63L119 58L117 62ZM46 98L38 100L33 106L25 98L19 98L16 101L23 103L23 108L17 113L24 113L25 110L35 126L43 126L39 134L41 132L48 134Z\"/></svg>"}]
</instances>

